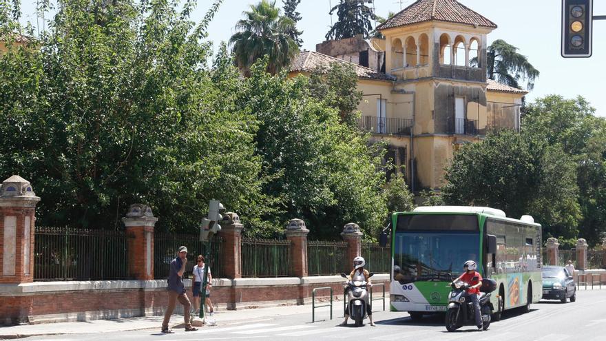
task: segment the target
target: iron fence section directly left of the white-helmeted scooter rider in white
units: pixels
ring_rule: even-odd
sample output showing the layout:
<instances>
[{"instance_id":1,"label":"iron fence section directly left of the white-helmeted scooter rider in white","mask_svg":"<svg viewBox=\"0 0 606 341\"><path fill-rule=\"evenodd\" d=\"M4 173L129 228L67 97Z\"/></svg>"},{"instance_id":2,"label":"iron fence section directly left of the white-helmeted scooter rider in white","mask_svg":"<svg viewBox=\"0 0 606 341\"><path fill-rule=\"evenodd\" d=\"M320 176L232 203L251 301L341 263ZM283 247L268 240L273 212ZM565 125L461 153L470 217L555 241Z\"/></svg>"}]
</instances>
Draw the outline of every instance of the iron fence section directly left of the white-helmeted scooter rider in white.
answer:
<instances>
[{"instance_id":1,"label":"iron fence section directly left of the white-helmeted scooter rider in white","mask_svg":"<svg viewBox=\"0 0 606 341\"><path fill-rule=\"evenodd\" d=\"M337 275L351 271L346 242L307 242L307 273L309 276Z\"/></svg>"}]
</instances>

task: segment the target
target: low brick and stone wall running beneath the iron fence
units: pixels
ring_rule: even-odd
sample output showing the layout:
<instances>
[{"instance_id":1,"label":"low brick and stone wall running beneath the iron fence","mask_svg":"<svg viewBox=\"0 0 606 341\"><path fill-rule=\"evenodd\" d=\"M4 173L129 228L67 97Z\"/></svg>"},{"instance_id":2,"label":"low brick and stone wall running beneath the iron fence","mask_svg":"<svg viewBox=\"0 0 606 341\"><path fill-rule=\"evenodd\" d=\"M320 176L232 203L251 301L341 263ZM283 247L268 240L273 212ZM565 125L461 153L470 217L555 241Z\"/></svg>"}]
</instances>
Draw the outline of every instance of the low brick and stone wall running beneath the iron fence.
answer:
<instances>
[{"instance_id":1,"label":"low brick and stone wall running beneath the iron fence","mask_svg":"<svg viewBox=\"0 0 606 341\"><path fill-rule=\"evenodd\" d=\"M375 283L389 275L377 274ZM191 280L185 280L191 300ZM332 287L342 297L340 276L237 278L213 280L211 299L218 309L246 309L309 304L316 287ZM0 324L44 323L162 315L167 305L166 280L33 282L0 285ZM328 290L320 293L328 296ZM378 297L377 294L376 297ZM182 313L177 304L176 313Z\"/></svg>"}]
</instances>

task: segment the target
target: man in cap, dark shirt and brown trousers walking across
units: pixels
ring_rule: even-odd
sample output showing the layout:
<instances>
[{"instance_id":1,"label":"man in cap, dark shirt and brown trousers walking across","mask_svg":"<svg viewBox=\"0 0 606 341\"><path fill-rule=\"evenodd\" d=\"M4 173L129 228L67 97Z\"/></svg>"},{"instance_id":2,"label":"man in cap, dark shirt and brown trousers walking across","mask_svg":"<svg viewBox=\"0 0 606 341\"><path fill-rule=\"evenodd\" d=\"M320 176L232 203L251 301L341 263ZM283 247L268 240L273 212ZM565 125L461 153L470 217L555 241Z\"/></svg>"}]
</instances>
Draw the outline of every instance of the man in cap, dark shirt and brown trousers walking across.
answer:
<instances>
[{"instance_id":1,"label":"man in cap, dark shirt and brown trousers walking across","mask_svg":"<svg viewBox=\"0 0 606 341\"><path fill-rule=\"evenodd\" d=\"M172 333L168 329L168 322L172 315L176 301L179 300L180 304L183 304L184 319L185 319L185 331L197 331L195 327L191 327L189 322L189 298L185 295L185 287L183 286L183 272L185 272L185 265L187 264L187 247L179 247L178 256L172 260L170 265L170 271L168 275L168 307L164 314L164 322L162 322L162 332Z\"/></svg>"}]
</instances>

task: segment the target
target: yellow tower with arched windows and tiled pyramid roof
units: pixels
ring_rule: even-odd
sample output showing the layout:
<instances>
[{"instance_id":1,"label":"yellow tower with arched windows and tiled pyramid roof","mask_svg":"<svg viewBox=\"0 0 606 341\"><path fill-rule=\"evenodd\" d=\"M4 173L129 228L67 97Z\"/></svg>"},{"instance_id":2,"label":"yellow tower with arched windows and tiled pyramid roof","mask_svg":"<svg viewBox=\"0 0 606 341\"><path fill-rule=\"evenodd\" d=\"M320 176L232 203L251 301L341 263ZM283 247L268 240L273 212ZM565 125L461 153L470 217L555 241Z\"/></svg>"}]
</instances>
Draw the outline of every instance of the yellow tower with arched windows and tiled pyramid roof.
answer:
<instances>
[{"instance_id":1,"label":"yellow tower with arched windows and tiled pyramid roof","mask_svg":"<svg viewBox=\"0 0 606 341\"><path fill-rule=\"evenodd\" d=\"M399 115L412 118L408 173L419 187L439 187L453 150L485 134L486 46L495 28L456 0L416 1L377 27L386 73L397 79L392 92L412 103Z\"/></svg>"}]
</instances>

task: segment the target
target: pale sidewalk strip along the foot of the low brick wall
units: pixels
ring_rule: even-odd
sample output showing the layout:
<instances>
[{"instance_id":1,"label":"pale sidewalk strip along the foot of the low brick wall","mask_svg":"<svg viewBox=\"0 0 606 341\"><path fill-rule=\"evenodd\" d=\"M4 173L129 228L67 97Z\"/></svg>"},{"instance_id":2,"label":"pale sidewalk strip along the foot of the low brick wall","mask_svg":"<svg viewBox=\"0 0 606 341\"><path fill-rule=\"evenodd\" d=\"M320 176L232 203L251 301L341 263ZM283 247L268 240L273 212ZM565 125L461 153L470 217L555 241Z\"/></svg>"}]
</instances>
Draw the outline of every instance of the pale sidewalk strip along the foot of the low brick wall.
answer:
<instances>
[{"instance_id":1,"label":"pale sidewalk strip along the foot of the low brick wall","mask_svg":"<svg viewBox=\"0 0 606 341\"><path fill-rule=\"evenodd\" d=\"M338 307L338 306L337 306ZM214 313L216 326L201 328L216 328L253 322L272 320L277 316L309 313L311 320L311 304L282 307L221 310ZM115 331L136 331L143 329L158 329L162 325L163 316L147 316L140 318L121 318L118 320L92 320L86 322L61 322L48 324L24 324L20 326L0 327L0 339L25 338L36 335L61 335L79 333L109 333ZM171 328L183 328L182 315L171 317Z\"/></svg>"}]
</instances>

